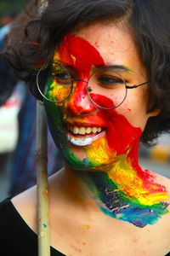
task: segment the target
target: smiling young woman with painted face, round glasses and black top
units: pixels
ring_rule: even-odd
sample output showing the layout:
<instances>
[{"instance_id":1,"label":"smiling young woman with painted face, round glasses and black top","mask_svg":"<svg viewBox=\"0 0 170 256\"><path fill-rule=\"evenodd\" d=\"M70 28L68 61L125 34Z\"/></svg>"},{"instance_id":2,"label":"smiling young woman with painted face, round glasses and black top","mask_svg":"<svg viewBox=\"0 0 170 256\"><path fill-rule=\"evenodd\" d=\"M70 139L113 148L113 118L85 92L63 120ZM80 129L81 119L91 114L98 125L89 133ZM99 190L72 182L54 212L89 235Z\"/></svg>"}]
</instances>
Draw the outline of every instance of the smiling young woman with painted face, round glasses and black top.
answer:
<instances>
[{"instance_id":1,"label":"smiling young woman with painted face, round glasses and black top","mask_svg":"<svg viewBox=\"0 0 170 256\"><path fill-rule=\"evenodd\" d=\"M48 1L8 41L6 59L44 102L65 159L49 178L52 255L170 251L170 182L138 162L139 142L170 129L163 2ZM36 189L1 212L7 251L37 255Z\"/></svg>"}]
</instances>

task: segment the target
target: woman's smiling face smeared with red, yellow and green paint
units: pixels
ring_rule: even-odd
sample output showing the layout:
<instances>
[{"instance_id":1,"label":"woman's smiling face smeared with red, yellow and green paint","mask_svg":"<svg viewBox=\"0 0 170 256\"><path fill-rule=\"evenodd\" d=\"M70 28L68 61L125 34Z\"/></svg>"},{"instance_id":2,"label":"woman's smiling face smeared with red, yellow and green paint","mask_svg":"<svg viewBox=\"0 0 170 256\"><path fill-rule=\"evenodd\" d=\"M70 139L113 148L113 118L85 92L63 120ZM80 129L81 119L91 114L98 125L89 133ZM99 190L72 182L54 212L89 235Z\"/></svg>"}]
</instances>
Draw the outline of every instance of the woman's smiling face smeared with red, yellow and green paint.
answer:
<instances>
[{"instance_id":1,"label":"woman's smiling face smeared with red, yellow and green paint","mask_svg":"<svg viewBox=\"0 0 170 256\"><path fill-rule=\"evenodd\" d=\"M66 35L54 61L67 67L74 79L80 79L64 103L45 102L50 130L66 162L80 169L107 168L122 154L138 147L149 118L147 85L127 90L122 105L111 110L98 108L87 93L90 75L101 67L114 66L129 86L146 82L132 36L116 24L96 23L75 36ZM48 80L47 93L62 100L61 95L68 91L57 86L53 76ZM99 105L106 102L109 108L115 106L111 89L94 98Z\"/></svg>"}]
</instances>

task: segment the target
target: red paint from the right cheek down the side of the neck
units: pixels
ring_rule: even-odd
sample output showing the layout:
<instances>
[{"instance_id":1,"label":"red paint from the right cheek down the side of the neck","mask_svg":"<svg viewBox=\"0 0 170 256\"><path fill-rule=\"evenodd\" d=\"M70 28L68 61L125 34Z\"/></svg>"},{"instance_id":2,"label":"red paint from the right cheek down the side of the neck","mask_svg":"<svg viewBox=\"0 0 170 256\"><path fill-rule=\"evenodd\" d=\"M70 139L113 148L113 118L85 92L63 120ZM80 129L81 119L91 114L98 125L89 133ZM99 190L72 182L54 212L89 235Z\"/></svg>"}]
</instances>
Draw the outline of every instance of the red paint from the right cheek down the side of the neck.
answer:
<instances>
[{"instance_id":1,"label":"red paint from the right cheek down the side of the neck","mask_svg":"<svg viewBox=\"0 0 170 256\"><path fill-rule=\"evenodd\" d=\"M130 125L127 119L115 109L103 110L104 118L107 121L107 143L108 146L116 152L117 155L125 154L129 148L131 150L127 154L133 170L143 180L144 188L153 193L166 192L167 189L159 183L155 183L155 177L149 171L141 169L138 161L139 138L142 131L139 127Z\"/></svg>"}]
</instances>

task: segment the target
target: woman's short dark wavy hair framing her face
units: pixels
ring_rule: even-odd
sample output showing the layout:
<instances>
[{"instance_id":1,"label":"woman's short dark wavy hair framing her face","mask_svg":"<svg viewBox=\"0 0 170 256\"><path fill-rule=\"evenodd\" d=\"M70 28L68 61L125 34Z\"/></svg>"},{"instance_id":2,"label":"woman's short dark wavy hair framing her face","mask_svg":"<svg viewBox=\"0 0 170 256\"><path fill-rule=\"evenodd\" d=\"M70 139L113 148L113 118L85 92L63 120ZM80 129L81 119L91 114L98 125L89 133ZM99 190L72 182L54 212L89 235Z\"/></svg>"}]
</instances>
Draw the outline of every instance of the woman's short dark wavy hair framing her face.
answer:
<instances>
[{"instance_id":1,"label":"woman's short dark wavy hair framing her face","mask_svg":"<svg viewBox=\"0 0 170 256\"><path fill-rule=\"evenodd\" d=\"M140 141L150 146L162 132L170 131L169 0L48 0L41 15L35 11L37 1L31 6L26 26L14 27L3 56L15 73L30 84L37 98L41 96L36 86L35 63L37 67L44 61L49 63L65 33L95 21L125 20L150 84L148 112L160 109L156 117L148 119Z\"/></svg>"}]
</instances>

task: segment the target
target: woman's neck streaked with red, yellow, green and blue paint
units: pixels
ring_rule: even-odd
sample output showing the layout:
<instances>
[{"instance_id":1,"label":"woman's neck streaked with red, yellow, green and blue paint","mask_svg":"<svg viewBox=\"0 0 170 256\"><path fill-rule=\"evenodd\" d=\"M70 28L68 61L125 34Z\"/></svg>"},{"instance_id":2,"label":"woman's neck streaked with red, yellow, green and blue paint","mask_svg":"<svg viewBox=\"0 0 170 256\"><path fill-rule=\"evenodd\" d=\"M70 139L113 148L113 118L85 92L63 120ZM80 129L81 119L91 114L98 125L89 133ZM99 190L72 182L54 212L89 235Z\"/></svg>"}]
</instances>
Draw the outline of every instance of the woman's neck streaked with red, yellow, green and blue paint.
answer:
<instances>
[{"instance_id":1,"label":"woman's neck streaked with red, yellow, green and blue paint","mask_svg":"<svg viewBox=\"0 0 170 256\"><path fill-rule=\"evenodd\" d=\"M149 171L139 166L138 145L139 141L116 157L110 166L92 172L77 171L66 165L62 183L66 195L87 211L95 207L102 214L138 227L155 224L167 212L167 191L154 182Z\"/></svg>"}]
</instances>

